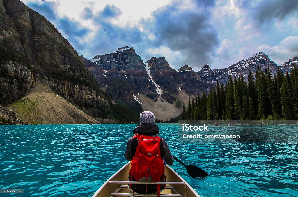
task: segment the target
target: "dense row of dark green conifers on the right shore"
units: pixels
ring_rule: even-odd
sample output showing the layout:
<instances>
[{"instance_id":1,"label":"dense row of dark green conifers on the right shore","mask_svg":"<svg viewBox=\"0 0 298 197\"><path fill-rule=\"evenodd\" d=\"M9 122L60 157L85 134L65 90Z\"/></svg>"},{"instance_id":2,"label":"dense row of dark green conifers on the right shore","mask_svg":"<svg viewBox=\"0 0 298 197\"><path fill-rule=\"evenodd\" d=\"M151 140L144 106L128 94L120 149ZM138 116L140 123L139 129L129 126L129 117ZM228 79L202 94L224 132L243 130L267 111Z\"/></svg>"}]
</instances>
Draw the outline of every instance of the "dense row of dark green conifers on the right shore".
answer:
<instances>
[{"instance_id":1,"label":"dense row of dark green conifers on the right shore","mask_svg":"<svg viewBox=\"0 0 298 197\"><path fill-rule=\"evenodd\" d=\"M204 93L183 106L182 120L297 120L298 70L283 74L277 68L272 76L257 68L255 77L249 71L247 82L243 76L234 78L216 88L208 96Z\"/></svg>"}]
</instances>

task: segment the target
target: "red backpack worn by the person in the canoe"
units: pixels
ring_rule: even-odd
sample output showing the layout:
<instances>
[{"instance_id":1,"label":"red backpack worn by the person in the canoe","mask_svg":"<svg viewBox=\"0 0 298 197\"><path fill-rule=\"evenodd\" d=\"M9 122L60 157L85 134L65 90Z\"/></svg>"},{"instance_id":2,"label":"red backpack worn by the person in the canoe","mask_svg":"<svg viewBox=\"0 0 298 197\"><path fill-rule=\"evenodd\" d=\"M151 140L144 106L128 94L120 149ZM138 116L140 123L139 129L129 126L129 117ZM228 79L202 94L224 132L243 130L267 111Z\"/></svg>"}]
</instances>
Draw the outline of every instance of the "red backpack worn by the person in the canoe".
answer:
<instances>
[{"instance_id":1,"label":"red backpack worn by the person in the canoe","mask_svg":"<svg viewBox=\"0 0 298 197\"><path fill-rule=\"evenodd\" d=\"M137 138L139 142L131 161L129 175L136 181L148 181L150 184L161 181L164 175L164 161L160 156L159 136L135 135L134 138Z\"/></svg>"}]
</instances>

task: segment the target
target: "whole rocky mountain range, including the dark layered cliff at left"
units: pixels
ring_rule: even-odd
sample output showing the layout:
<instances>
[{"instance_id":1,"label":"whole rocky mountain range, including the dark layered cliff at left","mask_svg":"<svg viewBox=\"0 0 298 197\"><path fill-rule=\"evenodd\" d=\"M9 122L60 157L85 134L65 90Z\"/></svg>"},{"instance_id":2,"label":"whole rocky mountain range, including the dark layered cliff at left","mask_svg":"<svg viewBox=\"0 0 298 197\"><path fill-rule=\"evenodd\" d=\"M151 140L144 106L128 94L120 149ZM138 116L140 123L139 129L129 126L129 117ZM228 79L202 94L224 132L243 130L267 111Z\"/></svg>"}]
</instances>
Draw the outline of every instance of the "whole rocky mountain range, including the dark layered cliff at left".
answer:
<instances>
[{"instance_id":1,"label":"whole rocky mountain range, including the dark layered cliff at left","mask_svg":"<svg viewBox=\"0 0 298 197\"><path fill-rule=\"evenodd\" d=\"M165 57L143 61L128 46L86 59L46 18L19 0L0 0L0 29L1 105L24 100L41 84L91 117L119 122L137 121L142 110L170 119L182 112L189 97L208 94L217 81L241 75L247 79L258 66L285 73L298 63L294 57L276 65L259 52L227 68L204 65L196 72L183 65L176 71Z\"/></svg>"}]
</instances>

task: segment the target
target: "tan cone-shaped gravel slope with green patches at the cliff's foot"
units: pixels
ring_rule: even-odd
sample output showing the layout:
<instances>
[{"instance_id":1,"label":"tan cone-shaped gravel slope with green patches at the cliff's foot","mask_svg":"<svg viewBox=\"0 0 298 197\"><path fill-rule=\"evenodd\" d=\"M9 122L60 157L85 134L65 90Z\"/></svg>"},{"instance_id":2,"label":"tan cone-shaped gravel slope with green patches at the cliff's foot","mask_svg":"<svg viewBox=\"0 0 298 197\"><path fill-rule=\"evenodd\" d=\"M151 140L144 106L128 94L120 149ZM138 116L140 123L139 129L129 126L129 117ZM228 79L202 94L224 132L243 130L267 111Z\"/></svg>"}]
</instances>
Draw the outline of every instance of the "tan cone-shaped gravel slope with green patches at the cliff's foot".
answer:
<instances>
[{"instance_id":1,"label":"tan cone-shaped gravel slope with green patches at the cliff's foot","mask_svg":"<svg viewBox=\"0 0 298 197\"><path fill-rule=\"evenodd\" d=\"M30 93L8 109L16 112L27 124L98 124L80 109L60 97L48 87L37 84Z\"/></svg>"}]
</instances>

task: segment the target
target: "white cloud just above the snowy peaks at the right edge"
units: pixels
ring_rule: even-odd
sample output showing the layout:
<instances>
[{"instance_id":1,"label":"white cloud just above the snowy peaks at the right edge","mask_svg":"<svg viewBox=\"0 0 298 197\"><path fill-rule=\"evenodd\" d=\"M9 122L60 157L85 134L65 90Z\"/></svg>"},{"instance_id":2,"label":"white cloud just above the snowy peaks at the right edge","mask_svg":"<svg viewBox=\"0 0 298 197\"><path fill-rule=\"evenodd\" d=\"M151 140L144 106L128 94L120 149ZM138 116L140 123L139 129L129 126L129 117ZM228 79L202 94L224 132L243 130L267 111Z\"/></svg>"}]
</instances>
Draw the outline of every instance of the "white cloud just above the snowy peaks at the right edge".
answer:
<instances>
[{"instance_id":1,"label":"white cloud just above the snowy peaks at the right edge","mask_svg":"<svg viewBox=\"0 0 298 197\"><path fill-rule=\"evenodd\" d=\"M275 63L283 64L287 59L298 56L298 36L289 36L275 46L263 44L258 49L266 53Z\"/></svg>"}]
</instances>

